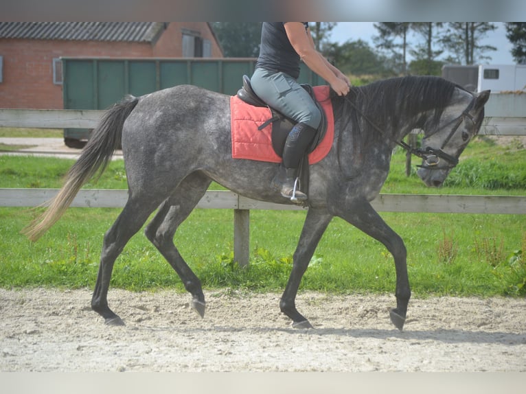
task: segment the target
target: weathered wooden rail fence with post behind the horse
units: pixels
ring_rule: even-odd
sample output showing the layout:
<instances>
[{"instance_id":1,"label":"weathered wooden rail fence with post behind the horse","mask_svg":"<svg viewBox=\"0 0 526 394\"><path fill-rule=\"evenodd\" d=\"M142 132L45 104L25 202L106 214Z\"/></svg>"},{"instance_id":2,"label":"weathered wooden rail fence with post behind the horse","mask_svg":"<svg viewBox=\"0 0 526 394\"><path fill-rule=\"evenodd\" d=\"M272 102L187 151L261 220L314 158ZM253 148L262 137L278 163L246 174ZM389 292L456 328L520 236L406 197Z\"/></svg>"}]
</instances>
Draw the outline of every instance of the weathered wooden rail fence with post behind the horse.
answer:
<instances>
[{"instance_id":1,"label":"weathered wooden rail fence with post behind the horse","mask_svg":"<svg viewBox=\"0 0 526 394\"><path fill-rule=\"evenodd\" d=\"M0 109L0 127L93 128L104 111ZM526 135L524 117L487 117L481 134ZM53 198L58 189L0 189L1 207L34 207ZM127 190L81 189L72 207L124 207ZM526 214L526 196L459 196L380 194L372 205L377 211L426 213ZM250 211L252 209L301 210L252 200L227 191L208 191L197 205L205 209L233 209L234 259L249 262Z\"/></svg>"}]
</instances>

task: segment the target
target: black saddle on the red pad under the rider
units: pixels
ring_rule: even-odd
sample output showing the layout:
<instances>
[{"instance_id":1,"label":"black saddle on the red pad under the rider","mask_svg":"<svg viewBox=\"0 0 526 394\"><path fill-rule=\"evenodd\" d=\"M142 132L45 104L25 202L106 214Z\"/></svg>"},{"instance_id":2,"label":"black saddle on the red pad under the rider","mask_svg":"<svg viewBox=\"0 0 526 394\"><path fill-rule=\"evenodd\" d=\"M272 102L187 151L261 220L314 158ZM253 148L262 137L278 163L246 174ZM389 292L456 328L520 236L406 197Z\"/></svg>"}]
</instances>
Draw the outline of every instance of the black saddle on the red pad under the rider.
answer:
<instances>
[{"instance_id":1,"label":"black saddle on the red pad under the rider","mask_svg":"<svg viewBox=\"0 0 526 394\"><path fill-rule=\"evenodd\" d=\"M318 106L319 111L321 112L320 125L318 127L314 139L312 140L312 143L308 148L308 153L310 153L313 150L315 150L315 148L323 139L325 132L327 131L327 118L325 117L325 111L323 111L323 107L316 100L314 89L312 89L312 86L308 84L301 84L301 87L303 87L310 94L310 97L312 97L312 100L314 100L314 102ZM268 105L263 100L261 100L260 97L258 97L258 95L255 94L252 90L250 78L248 76L243 76L243 86L241 89L238 90L238 97L247 104L251 104L253 106L268 107ZM296 122L293 121L293 119L286 117L282 113L279 113L279 111L276 111L274 108L270 108L270 110L272 116L267 121L265 121L264 124L258 127L258 130L263 130L264 128L266 128L266 126L268 126L268 124L272 124L272 147L276 154L279 157L282 157L283 148L285 146L285 140L288 136L288 133L290 132L290 130L292 130Z\"/></svg>"}]
</instances>

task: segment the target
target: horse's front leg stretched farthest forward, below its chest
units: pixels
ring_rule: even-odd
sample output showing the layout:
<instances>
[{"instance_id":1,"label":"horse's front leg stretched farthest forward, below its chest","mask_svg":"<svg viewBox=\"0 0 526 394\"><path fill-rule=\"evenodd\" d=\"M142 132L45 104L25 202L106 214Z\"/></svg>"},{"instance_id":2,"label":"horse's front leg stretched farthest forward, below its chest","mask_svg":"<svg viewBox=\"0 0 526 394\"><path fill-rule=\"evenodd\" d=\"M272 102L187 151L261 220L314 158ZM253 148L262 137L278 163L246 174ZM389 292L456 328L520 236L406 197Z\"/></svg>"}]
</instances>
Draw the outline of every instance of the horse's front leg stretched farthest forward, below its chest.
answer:
<instances>
[{"instance_id":1,"label":"horse's front leg stretched farthest forward, below its chest","mask_svg":"<svg viewBox=\"0 0 526 394\"><path fill-rule=\"evenodd\" d=\"M404 327L407 305L411 298L409 278L407 276L407 251L402 238L389 227L378 213L365 199L357 198L345 205L339 205L338 216L353 224L367 235L385 245L393 255L396 269L396 308L391 310L390 316L396 328L402 331ZM341 209L345 208L345 210Z\"/></svg>"}]
</instances>

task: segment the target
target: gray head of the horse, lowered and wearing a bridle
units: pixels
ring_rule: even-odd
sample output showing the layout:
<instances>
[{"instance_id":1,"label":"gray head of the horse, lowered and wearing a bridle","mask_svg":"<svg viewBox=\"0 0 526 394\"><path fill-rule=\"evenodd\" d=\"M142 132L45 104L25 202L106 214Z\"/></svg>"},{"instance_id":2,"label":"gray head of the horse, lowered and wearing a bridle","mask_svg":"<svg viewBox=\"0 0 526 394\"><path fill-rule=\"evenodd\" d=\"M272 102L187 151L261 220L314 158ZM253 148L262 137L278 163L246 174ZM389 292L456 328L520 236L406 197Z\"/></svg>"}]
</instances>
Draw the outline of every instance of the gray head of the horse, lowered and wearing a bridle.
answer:
<instances>
[{"instance_id":1,"label":"gray head of the horse, lowered and wearing a bridle","mask_svg":"<svg viewBox=\"0 0 526 394\"><path fill-rule=\"evenodd\" d=\"M450 106L422 139L422 165L417 174L427 186L440 187L468 142L479 132L484 117L484 104L490 91L470 93L457 88Z\"/></svg>"}]
</instances>

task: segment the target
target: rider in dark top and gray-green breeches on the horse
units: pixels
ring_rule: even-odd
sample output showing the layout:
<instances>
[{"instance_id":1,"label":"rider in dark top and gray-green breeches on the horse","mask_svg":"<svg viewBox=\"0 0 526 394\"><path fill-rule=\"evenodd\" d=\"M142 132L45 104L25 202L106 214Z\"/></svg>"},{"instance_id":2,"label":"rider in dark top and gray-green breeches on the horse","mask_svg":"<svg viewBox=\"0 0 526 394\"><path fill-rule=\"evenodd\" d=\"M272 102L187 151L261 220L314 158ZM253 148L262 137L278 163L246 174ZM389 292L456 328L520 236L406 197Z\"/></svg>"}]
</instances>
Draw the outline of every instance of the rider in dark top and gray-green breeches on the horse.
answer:
<instances>
[{"instance_id":1,"label":"rider in dark top and gray-green breeches on the horse","mask_svg":"<svg viewBox=\"0 0 526 394\"><path fill-rule=\"evenodd\" d=\"M297 168L321 122L321 113L310 95L297 82L299 60L327 81L338 95L346 95L350 81L316 49L308 22L264 22L260 56L251 78L253 91L268 106L275 108L297 124L290 130L283 150L283 161L273 180L282 196L306 200L295 191Z\"/></svg>"}]
</instances>

